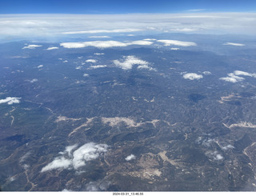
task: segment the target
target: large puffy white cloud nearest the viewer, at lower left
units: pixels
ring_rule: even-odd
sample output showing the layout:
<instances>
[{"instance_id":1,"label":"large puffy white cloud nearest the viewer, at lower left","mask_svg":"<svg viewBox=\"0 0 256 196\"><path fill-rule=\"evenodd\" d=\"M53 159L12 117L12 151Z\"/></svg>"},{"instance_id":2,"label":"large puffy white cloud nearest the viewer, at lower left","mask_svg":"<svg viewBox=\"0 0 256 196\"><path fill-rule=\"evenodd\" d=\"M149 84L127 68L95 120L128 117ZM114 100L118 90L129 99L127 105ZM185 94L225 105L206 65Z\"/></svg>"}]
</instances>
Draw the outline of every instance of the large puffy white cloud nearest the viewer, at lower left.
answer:
<instances>
[{"instance_id":1,"label":"large puffy white cloud nearest the viewer, at lower left","mask_svg":"<svg viewBox=\"0 0 256 196\"><path fill-rule=\"evenodd\" d=\"M77 147L77 144L73 146L67 146L63 152L59 153L61 156L54 158L54 161L44 166L41 172L56 169L78 170L82 166L86 166L86 162L94 160L98 158L102 153L105 153L108 148L106 144L96 144L94 142L86 143L79 148Z\"/></svg>"}]
</instances>

